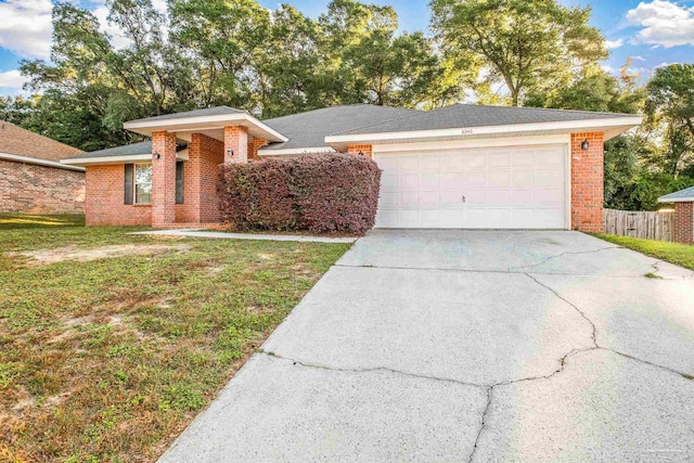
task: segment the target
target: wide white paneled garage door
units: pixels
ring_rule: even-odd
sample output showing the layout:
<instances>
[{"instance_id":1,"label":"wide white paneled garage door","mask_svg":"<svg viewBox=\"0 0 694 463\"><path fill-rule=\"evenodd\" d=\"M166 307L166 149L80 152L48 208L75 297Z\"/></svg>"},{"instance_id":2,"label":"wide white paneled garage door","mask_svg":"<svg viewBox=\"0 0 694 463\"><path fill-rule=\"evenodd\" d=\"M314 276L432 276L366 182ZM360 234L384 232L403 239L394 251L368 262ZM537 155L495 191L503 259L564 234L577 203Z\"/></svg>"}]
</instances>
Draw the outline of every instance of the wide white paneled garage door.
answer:
<instances>
[{"instance_id":1,"label":"wide white paneled garage door","mask_svg":"<svg viewBox=\"0 0 694 463\"><path fill-rule=\"evenodd\" d=\"M378 228L563 229L564 146L380 153Z\"/></svg>"}]
</instances>

